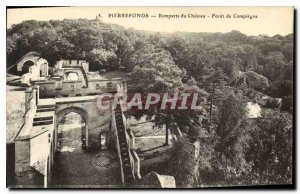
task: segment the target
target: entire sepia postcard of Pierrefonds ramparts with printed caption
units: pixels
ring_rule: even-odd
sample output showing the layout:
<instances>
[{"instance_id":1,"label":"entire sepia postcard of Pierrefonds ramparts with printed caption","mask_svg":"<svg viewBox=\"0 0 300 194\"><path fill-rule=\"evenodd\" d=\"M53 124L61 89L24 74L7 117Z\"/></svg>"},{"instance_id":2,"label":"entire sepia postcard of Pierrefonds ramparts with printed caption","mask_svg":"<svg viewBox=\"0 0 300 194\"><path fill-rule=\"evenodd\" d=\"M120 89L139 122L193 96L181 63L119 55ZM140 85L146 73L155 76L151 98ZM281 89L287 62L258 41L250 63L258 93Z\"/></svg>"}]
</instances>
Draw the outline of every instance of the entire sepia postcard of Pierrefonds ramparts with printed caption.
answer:
<instances>
[{"instance_id":1,"label":"entire sepia postcard of Pierrefonds ramparts with printed caption","mask_svg":"<svg viewBox=\"0 0 300 194\"><path fill-rule=\"evenodd\" d=\"M294 188L294 14L6 7L6 187Z\"/></svg>"}]
</instances>

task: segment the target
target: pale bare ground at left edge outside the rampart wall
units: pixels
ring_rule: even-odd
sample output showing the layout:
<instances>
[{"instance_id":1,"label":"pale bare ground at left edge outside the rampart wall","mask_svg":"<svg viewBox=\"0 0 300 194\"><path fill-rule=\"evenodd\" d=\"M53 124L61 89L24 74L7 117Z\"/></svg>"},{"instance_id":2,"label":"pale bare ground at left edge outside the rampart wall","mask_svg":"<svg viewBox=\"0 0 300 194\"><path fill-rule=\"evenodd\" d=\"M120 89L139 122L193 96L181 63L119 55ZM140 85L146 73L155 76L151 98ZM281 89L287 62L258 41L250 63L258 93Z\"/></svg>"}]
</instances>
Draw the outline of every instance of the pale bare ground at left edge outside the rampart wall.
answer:
<instances>
[{"instance_id":1,"label":"pale bare ground at left edge outside the rampart wall","mask_svg":"<svg viewBox=\"0 0 300 194\"><path fill-rule=\"evenodd\" d=\"M12 141L23 124L25 93L22 88L6 86L6 142Z\"/></svg>"}]
</instances>

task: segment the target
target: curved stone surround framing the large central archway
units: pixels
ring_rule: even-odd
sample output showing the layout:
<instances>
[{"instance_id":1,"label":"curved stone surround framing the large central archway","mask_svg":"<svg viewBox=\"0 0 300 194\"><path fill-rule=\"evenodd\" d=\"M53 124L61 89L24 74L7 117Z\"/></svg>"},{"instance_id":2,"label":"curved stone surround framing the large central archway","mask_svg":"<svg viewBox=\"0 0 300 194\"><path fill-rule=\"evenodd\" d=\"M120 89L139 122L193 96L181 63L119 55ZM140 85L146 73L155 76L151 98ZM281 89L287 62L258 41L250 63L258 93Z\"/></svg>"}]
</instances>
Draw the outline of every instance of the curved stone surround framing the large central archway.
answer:
<instances>
[{"instance_id":1,"label":"curved stone surround framing the large central archway","mask_svg":"<svg viewBox=\"0 0 300 194\"><path fill-rule=\"evenodd\" d=\"M56 126L55 126L55 143L57 143L57 133L58 133L58 125L60 124L61 120L63 119L63 117L68 114L68 113L77 113L78 115L81 116L81 118L84 120L85 122L85 133L83 134L84 136L84 141L85 141L85 145L83 146L83 149L88 147L88 122L89 122L89 116L86 110L84 110L83 108L80 107L76 107L76 106L71 106L71 107L67 107L64 108L60 111L58 111L56 113ZM55 146L56 147L56 146Z\"/></svg>"}]
</instances>

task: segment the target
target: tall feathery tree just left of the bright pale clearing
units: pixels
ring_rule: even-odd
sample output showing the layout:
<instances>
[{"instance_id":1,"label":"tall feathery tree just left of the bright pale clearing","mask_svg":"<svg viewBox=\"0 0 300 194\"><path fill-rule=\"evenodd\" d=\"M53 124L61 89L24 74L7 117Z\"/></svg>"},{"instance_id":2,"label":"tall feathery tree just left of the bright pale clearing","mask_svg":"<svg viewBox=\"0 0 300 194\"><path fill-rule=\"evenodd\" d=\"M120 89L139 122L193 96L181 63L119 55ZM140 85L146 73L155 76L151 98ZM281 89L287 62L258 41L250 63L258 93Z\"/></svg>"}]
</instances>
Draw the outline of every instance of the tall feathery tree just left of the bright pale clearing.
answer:
<instances>
[{"instance_id":1,"label":"tall feathery tree just left of the bright pale clearing","mask_svg":"<svg viewBox=\"0 0 300 194\"><path fill-rule=\"evenodd\" d=\"M247 110L238 96L231 94L219 110L216 127L215 168L223 171L224 181L241 176L248 168L244 151L250 139Z\"/></svg>"}]
</instances>

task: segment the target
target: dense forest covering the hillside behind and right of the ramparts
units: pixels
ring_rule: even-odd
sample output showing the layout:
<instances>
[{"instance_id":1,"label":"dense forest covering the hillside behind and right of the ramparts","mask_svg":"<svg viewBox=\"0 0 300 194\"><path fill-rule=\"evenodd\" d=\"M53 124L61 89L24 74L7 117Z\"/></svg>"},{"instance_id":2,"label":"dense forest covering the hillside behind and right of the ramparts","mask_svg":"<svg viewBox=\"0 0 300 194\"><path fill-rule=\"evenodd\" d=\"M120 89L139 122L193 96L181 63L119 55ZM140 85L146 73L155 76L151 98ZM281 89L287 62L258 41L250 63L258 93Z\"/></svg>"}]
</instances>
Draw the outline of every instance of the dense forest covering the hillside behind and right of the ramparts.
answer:
<instances>
[{"instance_id":1,"label":"dense forest covering the hillside behind and right of the ramparts","mask_svg":"<svg viewBox=\"0 0 300 194\"><path fill-rule=\"evenodd\" d=\"M122 69L130 73L135 91L200 93L205 110L134 115L154 116L157 125L185 134L170 162L177 184L288 184L293 172L293 41L293 34L159 33L99 20L31 20L7 30L7 66L35 51L50 65L84 59L93 71ZM281 105L264 105L262 117L249 119L246 103L260 103L262 96L281 98ZM185 145L197 140L201 156L191 161Z\"/></svg>"}]
</instances>

